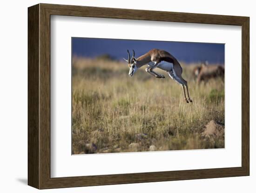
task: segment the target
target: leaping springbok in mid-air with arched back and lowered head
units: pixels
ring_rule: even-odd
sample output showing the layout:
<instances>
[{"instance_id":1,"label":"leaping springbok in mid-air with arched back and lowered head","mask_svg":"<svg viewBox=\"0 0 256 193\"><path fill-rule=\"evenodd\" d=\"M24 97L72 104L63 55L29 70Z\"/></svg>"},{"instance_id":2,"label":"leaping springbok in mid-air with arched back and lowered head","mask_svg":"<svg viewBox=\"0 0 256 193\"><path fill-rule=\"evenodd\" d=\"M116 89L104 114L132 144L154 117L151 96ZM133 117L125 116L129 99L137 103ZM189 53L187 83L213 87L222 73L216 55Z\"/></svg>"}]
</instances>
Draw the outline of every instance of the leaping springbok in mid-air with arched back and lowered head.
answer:
<instances>
[{"instance_id":1,"label":"leaping springbok in mid-air with arched back and lowered head","mask_svg":"<svg viewBox=\"0 0 256 193\"><path fill-rule=\"evenodd\" d=\"M175 80L178 84L182 86L184 99L187 103L191 102L192 100L189 96L189 88L188 83L186 80L182 78L182 67L181 64L178 62L174 56L164 50L152 49L145 53L144 55L140 56L139 58L135 58L135 51L133 50L133 56L130 57L130 53L128 52L128 59L123 58L126 62L128 62L129 67L129 76L132 77L141 66L148 64L146 67L146 72L153 75L157 78L164 78L162 74L158 74L154 71L155 68L160 68L163 71L167 71L169 76ZM186 97L185 88L188 92L188 98Z\"/></svg>"}]
</instances>

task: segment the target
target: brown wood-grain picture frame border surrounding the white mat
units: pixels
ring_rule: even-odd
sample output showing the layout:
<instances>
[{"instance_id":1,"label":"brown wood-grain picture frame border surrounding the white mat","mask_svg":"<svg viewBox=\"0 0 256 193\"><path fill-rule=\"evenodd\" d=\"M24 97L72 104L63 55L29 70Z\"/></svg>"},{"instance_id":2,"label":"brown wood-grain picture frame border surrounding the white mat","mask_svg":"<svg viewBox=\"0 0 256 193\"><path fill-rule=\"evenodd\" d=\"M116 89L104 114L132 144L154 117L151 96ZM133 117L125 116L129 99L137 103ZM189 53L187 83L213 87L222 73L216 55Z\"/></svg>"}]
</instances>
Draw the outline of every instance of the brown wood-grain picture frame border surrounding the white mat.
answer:
<instances>
[{"instance_id":1,"label":"brown wood-grain picture frame border surrounding the white mat","mask_svg":"<svg viewBox=\"0 0 256 193\"><path fill-rule=\"evenodd\" d=\"M51 178L50 16L66 15L242 26L242 167ZM38 4L28 8L28 185L99 186L249 175L249 17Z\"/></svg>"}]
</instances>

